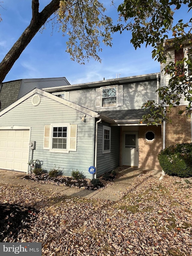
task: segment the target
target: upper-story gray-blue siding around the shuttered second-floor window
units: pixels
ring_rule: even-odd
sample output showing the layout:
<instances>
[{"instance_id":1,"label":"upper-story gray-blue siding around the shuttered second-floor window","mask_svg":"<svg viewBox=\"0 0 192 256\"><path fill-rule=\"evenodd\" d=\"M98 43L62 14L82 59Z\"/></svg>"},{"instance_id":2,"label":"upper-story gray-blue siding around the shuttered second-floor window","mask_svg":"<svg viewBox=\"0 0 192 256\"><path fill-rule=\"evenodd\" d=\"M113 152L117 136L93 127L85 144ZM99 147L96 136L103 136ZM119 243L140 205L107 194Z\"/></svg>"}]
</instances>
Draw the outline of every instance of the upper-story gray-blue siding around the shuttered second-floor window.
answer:
<instances>
[{"instance_id":1,"label":"upper-story gray-blue siding around the shuttered second-floor window","mask_svg":"<svg viewBox=\"0 0 192 256\"><path fill-rule=\"evenodd\" d=\"M110 87L110 86L109 86ZM96 112L104 110L140 109L148 100L157 102L157 80L128 83L123 85L123 106L96 107L96 88L69 91L69 100Z\"/></svg>"}]
</instances>

